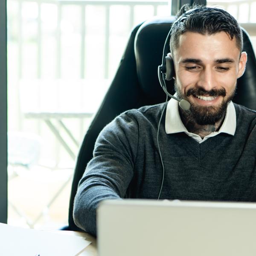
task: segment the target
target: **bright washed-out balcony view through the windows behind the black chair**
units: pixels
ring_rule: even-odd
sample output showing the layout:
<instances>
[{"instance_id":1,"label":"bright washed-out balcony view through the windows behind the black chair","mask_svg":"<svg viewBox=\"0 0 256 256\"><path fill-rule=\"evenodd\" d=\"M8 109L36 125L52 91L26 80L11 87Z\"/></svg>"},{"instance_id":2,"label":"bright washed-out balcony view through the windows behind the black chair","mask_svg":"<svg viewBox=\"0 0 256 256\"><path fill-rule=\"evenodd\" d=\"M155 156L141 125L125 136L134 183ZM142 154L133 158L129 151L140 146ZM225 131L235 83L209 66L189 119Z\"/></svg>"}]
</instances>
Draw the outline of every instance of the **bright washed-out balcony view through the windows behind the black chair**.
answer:
<instances>
[{"instance_id":1,"label":"bright washed-out balcony view through the windows behind the black chair","mask_svg":"<svg viewBox=\"0 0 256 256\"><path fill-rule=\"evenodd\" d=\"M256 1L207 5L230 12L256 46ZM67 224L79 145L131 29L170 14L168 0L7 0L8 224Z\"/></svg>"}]
</instances>

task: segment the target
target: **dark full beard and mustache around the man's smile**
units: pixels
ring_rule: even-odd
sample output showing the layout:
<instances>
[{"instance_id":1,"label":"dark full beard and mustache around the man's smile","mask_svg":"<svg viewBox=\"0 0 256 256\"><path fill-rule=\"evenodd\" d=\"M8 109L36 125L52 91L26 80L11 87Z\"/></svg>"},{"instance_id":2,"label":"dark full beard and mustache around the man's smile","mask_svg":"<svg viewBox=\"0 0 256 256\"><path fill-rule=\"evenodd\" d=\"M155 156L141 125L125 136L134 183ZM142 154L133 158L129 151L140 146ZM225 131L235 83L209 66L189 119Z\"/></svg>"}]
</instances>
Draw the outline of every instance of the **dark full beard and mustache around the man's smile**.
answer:
<instances>
[{"instance_id":1,"label":"dark full beard and mustache around the man's smile","mask_svg":"<svg viewBox=\"0 0 256 256\"><path fill-rule=\"evenodd\" d=\"M185 118L189 118L192 121L195 121L198 125L214 125L216 122L220 121L226 111L227 111L227 105L228 103L233 99L236 93L236 87L233 90L233 92L227 96L227 98L223 99L220 105L218 106L200 106L195 105L194 103L189 101L189 96L226 96L225 89L219 89L219 90L210 90L206 91L203 88L190 88L186 95L183 95L177 86L177 83L175 81L175 91L177 93L177 96L179 99L185 99L187 100L191 107L189 110L184 111L183 114L185 115Z\"/></svg>"}]
</instances>

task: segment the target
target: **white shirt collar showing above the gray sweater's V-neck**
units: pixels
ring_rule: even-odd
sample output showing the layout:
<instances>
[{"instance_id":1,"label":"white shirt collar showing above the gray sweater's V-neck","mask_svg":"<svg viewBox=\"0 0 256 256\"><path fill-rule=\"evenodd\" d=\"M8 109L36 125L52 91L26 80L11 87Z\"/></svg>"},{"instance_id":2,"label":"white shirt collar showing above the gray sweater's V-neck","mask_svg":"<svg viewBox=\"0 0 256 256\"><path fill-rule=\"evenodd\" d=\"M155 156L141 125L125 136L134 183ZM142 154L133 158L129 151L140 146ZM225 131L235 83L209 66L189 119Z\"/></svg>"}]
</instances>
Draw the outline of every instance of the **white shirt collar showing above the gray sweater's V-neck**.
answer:
<instances>
[{"instance_id":1,"label":"white shirt collar showing above the gray sweater's V-neck","mask_svg":"<svg viewBox=\"0 0 256 256\"><path fill-rule=\"evenodd\" d=\"M236 110L233 102L227 105L227 112L221 128L218 131L214 131L202 139L199 135L189 132L183 125L180 119L178 102L175 99L170 99L166 108L166 121L165 121L166 134L175 134L179 132L185 132L189 137L202 143L208 138L213 137L221 132L234 135L236 131Z\"/></svg>"}]
</instances>

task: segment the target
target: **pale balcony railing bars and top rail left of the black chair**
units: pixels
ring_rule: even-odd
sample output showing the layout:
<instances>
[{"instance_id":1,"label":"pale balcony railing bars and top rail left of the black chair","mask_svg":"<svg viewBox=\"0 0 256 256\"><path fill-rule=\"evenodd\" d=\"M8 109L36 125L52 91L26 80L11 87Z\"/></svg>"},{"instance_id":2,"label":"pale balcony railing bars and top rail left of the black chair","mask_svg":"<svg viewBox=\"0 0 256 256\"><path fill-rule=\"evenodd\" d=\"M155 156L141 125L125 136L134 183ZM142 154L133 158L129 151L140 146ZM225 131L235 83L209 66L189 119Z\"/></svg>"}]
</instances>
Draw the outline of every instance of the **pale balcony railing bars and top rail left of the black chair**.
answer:
<instances>
[{"instance_id":1,"label":"pale balcony railing bars and top rail left of the black chair","mask_svg":"<svg viewBox=\"0 0 256 256\"><path fill-rule=\"evenodd\" d=\"M41 6L43 4L51 4L55 5L57 8L57 26L55 29L55 40L56 40L56 72L55 72L55 78L60 79L61 78L61 63L62 63L62 58L61 58L61 21L62 21L62 10L65 6L77 6L80 9L81 15L80 15L80 52L81 52L81 58L80 58L80 75L79 77L81 79L84 79L86 77L86 68L85 68L85 52L86 52L86 44L85 44L85 38L87 35L86 29L85 29L85 14L86 14L86 9L88 6L102 6L105 9L105 26L103 28L105 38L103 38L104 41L104 78L109 77L109 38L110 38L110 10L112 6L126 6L129 9L130 12L130 17L128 22L128 31L132 29L132 27L135 25L134 24L134 10L136 6L152 6L153 8L153 15L159 14L157 12L157 9L159 6L166 6L166 8L169 8L168 6L168 1L157 1L157 0L149 0L149 1L118 1L118 0L112 0L112 1L104 1L104 0L8 0L8 2L15 2L18 3L18 13L17 13L17 24L18 24L18 35L17 35L17 44L18 44L18 78L21 79L23 78L23 72L22 72L22 67L23 67L23 45L24 45L24 40L23 40L23 32L26 29L24 27L23 21L24 18L26 18L26 10L23 9L23 6L25 3L35 3L38 8L38 15L35 20L32 22L36 22L37 26L37 74L36 77L38 79L41 79L41 62L42 62L42 39L44 37L42 33L42 23L41 23ZM116 20L118 22L118 20ZM128 36L128 35L126 35Z\"/></svg>"}]
</instances>

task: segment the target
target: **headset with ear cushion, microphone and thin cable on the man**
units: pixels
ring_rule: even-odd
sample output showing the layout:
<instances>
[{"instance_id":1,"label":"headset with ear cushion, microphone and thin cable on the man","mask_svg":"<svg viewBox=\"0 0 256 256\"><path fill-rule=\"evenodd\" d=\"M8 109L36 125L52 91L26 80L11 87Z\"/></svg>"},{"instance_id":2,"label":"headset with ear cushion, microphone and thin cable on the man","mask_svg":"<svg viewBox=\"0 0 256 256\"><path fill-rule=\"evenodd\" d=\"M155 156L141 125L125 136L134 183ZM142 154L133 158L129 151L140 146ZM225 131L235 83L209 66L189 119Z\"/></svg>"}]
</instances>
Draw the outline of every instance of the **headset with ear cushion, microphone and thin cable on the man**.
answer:
<instances>
[{"instance_id":1,"label":"headset with ear cushion, microphone and thin cable on the man","mask_svg":"<svg viewBox=\"0 0 256 256\"><path fill-rule=\"evenodd\" d=\"M197 8L195 8L195 9L197 9ZM175 22L172 24L172 27L171 27L168 35L167 35L167 38L166 38L166 41L165 41L165 44L164 44L164 47L163 47L162 64L160 66L158 66L158 79L159 79L161 87L163 88L163 91L166 93L166 102L165 102L165 105L163 107L163 111L161 113L160 120L159 120L159 123L158 123L158 128L157 128L157 146L158 146L158 152L159 152L159 155L160 155L161 165L162 165L162 169L163 169L162 181L161 181L161 186L160 186L160 189L159 189L159 192L158 192L157 200L159 200L161 192L162 192L163 180L164 180L164 174L165 174L165 168L164 168L164 165L163 165L163 159L162 159L162 155L161 155L161 151L160 151L158 137L159 137L160 123L161 123L161 120L162 120L162 117L163 117L163 113L164 113L164 111L166 109L166 106L167 106L168 96L171 97L172 99L177 100L179 102L180 108L182 108L183 110L187 111L190 108L190 103L188 101L186 101L185 99L179 99L179 98L173 96L172 94L170 94L167 91L167 88L166 88L166 81L172 80L175 76L175 69L174 69L173 60L169 55L167 55L168 50L169 50L169 43L170 43L170 39L171 39L172 28L175 25L175 23L180 22L182 20L186 20L187 17L188 17L187 14L189 14L189 12L194 11L195 9L190 9L190 10L184 12L183 15L178 17L177 20L175 20Z\"/></svg>"}]
</instances>

